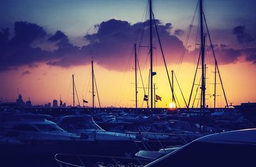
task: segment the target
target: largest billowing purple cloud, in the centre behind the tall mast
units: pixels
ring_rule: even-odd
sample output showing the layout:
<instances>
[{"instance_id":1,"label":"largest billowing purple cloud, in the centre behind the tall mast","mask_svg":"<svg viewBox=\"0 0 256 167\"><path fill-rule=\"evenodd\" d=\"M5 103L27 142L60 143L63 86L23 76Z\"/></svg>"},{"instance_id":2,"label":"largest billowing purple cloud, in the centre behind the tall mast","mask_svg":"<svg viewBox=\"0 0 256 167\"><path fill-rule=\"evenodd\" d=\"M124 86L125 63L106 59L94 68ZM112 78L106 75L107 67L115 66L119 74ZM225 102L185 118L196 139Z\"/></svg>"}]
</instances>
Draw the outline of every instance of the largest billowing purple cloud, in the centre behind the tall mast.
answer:
<instances>
[{"instance_id":1,"label":"largest billowing purple cloud, in the centre behind the tall mast","mask_svg":"<svg viewBox=\"0 0 256 167\"><path fill-rule=\"evenodd\" d=\"M65 53L72 51L66 56L61 56L58 60L48 61L48 65L56 65L68 67L70 65L85 65L93 59L102 67L112 70L125 70L124 63L129 61L134 42L139 43L141 34L143 34L144 43L148 45L148 20L130 24L124 20L111 19L95 25L96 33L86 34L84 38L89 42L81 48L75 47L67 43L63 46ZM173 52L182 51L182 42L175 35L170 35L172 24L161 24L161 21L156 20L159 35L163 40L164 49ZM156 39L157 40L157 39ZM58 49L60 52L62 47ZM147 48L148 49L148 48ZM59 55L59 54L58 54ZM145 55L146 57L147 55Z\"/></svg>"}]
</instances>

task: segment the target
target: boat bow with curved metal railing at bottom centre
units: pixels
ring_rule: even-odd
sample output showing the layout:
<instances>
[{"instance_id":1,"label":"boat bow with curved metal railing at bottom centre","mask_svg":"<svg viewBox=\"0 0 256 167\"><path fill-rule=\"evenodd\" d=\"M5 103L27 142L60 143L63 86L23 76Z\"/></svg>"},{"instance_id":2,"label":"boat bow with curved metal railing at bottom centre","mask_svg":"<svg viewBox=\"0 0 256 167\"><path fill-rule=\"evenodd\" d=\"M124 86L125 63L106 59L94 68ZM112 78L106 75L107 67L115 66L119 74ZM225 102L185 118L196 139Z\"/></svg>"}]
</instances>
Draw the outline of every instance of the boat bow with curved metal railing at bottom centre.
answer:
<instances>
[{"instance_id":1,"label":"boat bow with curved metal railing at bottom centre","mask_svg":"<svg viewBox=\"0 0 256 167\"><path fill-rule=\"evenodd\" d=\"M148 159L115 157L103 155L56 154L54 159L60 167L84 166L143 166L150 163Z\"/></svg>"}]
</instances>

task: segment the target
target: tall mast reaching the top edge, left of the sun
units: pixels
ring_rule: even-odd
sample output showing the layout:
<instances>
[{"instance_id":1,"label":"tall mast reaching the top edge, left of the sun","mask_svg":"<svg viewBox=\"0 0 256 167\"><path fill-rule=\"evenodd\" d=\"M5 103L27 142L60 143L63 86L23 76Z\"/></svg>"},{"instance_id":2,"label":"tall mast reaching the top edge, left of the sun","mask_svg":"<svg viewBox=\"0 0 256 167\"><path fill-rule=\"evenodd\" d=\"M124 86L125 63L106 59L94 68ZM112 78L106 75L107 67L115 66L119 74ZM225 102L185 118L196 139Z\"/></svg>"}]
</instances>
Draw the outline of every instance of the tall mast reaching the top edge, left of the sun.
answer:
<instances>
[{"instance_id":1,"label":"tall mast reaching the top edge, left of the sun","mask_svg":"<svg viewBox=\"0 0 256 167\"><path fill-rule=\"evenodd\" d=\"M149 20L150 20L150 107L153 107L153 42L152 42L152 0L149 0Z\"/></svg>"}]
</instances>

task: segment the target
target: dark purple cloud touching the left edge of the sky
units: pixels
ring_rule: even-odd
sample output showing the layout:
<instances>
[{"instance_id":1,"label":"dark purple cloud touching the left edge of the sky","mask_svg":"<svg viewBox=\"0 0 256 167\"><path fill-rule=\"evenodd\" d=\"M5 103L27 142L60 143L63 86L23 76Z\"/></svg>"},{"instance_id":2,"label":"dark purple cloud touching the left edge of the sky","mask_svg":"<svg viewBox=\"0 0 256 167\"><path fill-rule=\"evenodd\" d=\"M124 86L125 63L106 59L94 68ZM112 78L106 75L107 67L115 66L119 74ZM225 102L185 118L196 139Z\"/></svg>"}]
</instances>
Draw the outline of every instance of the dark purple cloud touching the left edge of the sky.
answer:
<instances>
[{"instance_id":1,"label":"dark purple cloud touching the left edge of the sky","mask_svg":"<svg viewBox=\"0 0 256 167\"><path fill-rule=\"evenodd\" d=\"M14 36L10 40L8 29L3 29L0 33L0 71L17 69L21 65L33 66L33 63L51 58L51 52L30 46L45 35L42 27L29 22L15 22Z\"/></svg>"}]
</instances>

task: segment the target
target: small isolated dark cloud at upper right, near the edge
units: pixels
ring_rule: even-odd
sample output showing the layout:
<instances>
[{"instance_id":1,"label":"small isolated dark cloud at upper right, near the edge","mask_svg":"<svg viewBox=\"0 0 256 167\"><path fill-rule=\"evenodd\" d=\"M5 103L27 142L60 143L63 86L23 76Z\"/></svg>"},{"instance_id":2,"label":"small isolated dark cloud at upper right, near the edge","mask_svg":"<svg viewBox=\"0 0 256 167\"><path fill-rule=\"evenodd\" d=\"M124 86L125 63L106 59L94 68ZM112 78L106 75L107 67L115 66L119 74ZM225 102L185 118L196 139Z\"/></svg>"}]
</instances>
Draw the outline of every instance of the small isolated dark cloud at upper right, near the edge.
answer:
<instances>
[{"instance_id":1,"label":"small isolated dark cloud at upper right, near the edge","mask_svg":"<svg viewBox=\"0 0 256 167\"><path fill-rule=\"evenodd\" d=\"M232 33L233 35L236 35L236 39L240 44L246 44L255 40L255 38L246 32L245 26L236 26Z\"/></svg>"}]
</instances>

